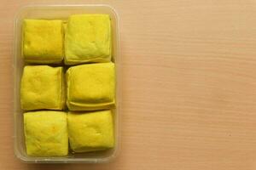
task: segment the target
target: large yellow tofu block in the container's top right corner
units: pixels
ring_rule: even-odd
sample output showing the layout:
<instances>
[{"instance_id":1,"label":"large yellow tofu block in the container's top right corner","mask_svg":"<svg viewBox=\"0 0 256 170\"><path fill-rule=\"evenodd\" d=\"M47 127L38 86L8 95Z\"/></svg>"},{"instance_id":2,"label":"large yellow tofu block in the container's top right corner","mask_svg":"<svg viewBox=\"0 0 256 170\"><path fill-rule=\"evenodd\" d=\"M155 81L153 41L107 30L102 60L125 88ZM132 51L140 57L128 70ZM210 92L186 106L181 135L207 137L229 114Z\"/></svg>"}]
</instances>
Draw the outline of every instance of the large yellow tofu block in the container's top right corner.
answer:
<instances>
[{"instance_id":1,"label":"large yellow tofu block in the container's top right corner","mask_svg":"<svg viewBox=\"0 0 256 170\"><path fill-rule=\"evenodd\" d=\"M111 43L108 14L71 15L65 35L65 64L108 62Z\"/></svg>"}]
</instances>

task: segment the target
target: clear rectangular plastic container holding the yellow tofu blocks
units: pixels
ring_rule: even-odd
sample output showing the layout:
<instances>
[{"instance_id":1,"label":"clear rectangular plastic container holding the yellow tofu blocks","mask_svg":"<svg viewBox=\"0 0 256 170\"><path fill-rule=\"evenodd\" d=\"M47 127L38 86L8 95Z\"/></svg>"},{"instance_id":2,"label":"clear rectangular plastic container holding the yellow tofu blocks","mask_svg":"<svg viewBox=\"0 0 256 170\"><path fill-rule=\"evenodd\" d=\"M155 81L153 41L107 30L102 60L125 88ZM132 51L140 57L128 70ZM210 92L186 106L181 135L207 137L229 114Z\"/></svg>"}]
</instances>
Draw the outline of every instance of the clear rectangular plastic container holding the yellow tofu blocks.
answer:
<instances>
[{"instance_id":1,"label":"clear rectangular plastic container holding the yellow tofu blocks","mask_svg":"<svg viewBox=\"0 0 256 170\"><path fill-rule=\"evenodd\" d=\"M21 56L22 32L24 19L61 19L67 20L70 14L109 14L112 24L113 62L116 65L116 109L113 110L115 146L111 150L75 153L61 157L32 157L26 155L26 145L23 131L23 111L20 109L20 77L24 62ZM119 18L115 10L108 5L37 5L20 8L15 17L15 48L14 48L14 118L15 118L15 156L25 162L108 162L116 156L119 148L119 99L120 93L120 66L119 66Z\"/></svg>"}]
</instances>

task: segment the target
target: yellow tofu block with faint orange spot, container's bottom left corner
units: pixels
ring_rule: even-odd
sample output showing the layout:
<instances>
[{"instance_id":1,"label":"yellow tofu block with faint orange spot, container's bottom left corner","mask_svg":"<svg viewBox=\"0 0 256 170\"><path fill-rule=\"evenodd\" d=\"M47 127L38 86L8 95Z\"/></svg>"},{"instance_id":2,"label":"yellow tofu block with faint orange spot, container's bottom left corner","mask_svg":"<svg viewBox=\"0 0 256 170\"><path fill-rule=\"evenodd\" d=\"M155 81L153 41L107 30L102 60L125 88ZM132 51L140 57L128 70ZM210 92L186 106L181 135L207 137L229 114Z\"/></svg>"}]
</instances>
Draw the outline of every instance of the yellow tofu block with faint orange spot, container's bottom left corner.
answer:
<instances>
[{"instance_id":1,"label":"yellow tofu block with faint orange spot, container's bottom left corner","mask_svg":"<svg viewBox=\"0 0 256 170\"><path fill-rule=\"evenodd\" d=\"M31 111L24 114L28 156L67 156L67 113Z\"/></svg>"}]
</instances>

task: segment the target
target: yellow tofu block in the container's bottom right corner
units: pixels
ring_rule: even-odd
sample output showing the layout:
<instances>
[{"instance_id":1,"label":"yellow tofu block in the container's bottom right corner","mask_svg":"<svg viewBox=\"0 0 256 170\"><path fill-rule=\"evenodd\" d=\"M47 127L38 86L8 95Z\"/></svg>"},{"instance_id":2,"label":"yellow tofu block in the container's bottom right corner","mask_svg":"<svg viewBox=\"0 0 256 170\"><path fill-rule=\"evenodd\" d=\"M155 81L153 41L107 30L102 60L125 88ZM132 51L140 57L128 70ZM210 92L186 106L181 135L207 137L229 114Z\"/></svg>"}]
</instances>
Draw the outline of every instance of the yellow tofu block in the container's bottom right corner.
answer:
<instances>
[{"instance_id":1,"label":"yellow tofu block in the container's bottom right corner","mask_svg":"<svg viewBox=\"0 0 256 170\"><path fill-rule=\"evenodd\" d=\"M67 114L68 137L74 152L113 148L113 117L111 111Z\"/></svg>"}]
</instances>

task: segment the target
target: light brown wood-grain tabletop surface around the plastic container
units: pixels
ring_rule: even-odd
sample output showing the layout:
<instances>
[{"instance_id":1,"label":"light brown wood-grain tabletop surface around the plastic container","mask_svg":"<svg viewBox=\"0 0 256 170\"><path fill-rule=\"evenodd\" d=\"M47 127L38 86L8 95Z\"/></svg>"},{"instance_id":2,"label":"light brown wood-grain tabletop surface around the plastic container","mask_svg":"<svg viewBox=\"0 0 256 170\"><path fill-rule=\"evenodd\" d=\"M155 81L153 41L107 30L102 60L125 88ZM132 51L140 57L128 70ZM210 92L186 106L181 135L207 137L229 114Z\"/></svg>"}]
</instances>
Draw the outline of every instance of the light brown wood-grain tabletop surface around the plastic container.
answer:
<instances>
[{"instance_id":1,"label":"light brown wood-grain tabletop surface around the plastic container","mask_svg":"<svg viewBox=\"0 0 256 170\"><path fill-rule=\"evenodd\" d=\"M16 10L32 2L0 1L1 170L256 169L254 0L70 1L108 3L119 12L121 152L99 165L17 160L13 21Z\"/></svg>"}]
</instances>

